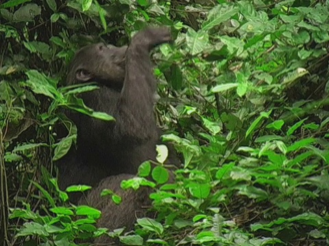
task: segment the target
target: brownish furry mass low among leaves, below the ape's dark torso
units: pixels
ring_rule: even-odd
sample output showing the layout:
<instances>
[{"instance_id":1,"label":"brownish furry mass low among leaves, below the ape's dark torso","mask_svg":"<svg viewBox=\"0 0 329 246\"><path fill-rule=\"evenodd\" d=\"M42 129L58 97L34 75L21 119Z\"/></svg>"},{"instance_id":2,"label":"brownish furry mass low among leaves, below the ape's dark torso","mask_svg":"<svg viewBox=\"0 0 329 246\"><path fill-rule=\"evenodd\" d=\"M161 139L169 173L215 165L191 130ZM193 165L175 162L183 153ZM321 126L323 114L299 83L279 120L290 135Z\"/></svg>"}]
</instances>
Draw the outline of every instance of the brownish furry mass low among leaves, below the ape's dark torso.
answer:
<instances>
[{"instance_id":1,"label":"brownish furry mass low among leaves, below the ape's dark torso","mask_svg":"<svg viewBox=\"0 0 329 246\"><path fill-rule=\"evenodd\" d=\"M81 197L78 204L86 204L93 208L101 210L101 218L97 221L98 228L108 228L110 231L123 228L130 231L134 228L136 218L150 215L147 213L147 207L151 205L149 200L150 189L148 187L140 187L137 191L128 189L124 191L120 184L122 180L134 178L131 174L119 174L104 178L99 182L97 188L93 189L86 195ZM100 193L103 189L110 189L122 198L121 204L114 204L110 196L101 197ZM101 236L95 239L93 245L109 245L116 243L109 236ZM118 242L117 242L118 243Z\"/></svg>"}]
</instances>

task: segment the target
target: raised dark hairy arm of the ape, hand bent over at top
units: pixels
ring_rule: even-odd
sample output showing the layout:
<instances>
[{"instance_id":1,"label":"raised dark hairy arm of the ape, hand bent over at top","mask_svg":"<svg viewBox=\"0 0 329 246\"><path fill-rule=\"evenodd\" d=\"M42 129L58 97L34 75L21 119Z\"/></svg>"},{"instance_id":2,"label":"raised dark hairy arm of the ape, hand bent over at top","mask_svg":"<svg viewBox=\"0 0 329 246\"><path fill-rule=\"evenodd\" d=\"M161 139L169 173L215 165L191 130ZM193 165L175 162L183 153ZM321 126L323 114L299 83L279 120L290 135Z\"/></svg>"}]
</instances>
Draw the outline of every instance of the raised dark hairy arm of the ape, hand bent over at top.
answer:
<instances>
[{"instance_id":1,"label":"raised dark hairy arm of the ape, hand bent over at top","mask_svg":"<svg viewBox=\"0 0 329 246\"><path fill-rule=\"evenodd\" d=\"M149 58L155 46L171 40L166 27L148 28L133 38L125 54L125 80L117 105L115 130L128 141L149 140L157 135L153 112L156 81Z\"/></svg>"}]
</instances>

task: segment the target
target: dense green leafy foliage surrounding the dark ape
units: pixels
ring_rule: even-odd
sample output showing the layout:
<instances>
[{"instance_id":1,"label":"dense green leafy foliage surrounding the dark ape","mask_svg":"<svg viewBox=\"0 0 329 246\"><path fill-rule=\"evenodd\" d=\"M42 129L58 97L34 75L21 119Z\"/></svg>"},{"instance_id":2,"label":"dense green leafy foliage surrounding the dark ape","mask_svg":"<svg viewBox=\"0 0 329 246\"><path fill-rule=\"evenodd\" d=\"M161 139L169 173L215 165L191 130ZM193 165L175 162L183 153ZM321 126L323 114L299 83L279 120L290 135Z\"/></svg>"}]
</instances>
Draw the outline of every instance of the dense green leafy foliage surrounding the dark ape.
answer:
<instances>
[{"instance_id":1,"label":"dense green leafy foliage surrounding the dark ape","mask_svg":"<svg viewBox=\"0 0 329 246\"><path fill-rule=\"evenodd\" d=\"M182 168L163 184L160 147L158 167L123 183L154 187L157 218L107 232L98 210L67 202L88 187L60 191L53 178L77 137L62 109L108 118L75 97L95 85L65 87L65 72L80 46L121 46L145 25L167 25L175 40L154 55L156 113ZM104 233L127 245L328 245L328 44L324 0L1 3L1 245Z\"/></svg>"}]
</instances>

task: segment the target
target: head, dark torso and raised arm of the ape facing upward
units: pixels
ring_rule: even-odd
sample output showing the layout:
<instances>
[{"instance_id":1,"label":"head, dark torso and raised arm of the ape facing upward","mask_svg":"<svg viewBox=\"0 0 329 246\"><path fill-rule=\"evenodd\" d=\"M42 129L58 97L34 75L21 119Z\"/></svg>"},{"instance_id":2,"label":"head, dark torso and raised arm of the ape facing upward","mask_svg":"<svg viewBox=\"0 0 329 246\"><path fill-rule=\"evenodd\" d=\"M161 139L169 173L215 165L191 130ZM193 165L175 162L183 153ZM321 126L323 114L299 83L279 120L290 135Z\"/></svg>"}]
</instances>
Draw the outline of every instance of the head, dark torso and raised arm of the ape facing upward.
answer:
<instances>
[{"instance_id":1,"label":"head, dark torso and raised arm of the ape facing upward","mask_svg":"<svg viewBox=\"0 0 329 246\"><path fill-rule=\"evenodd\" d=\"M81 98L95 111L113 115L115 121L70 113L78 128L77 149L58 165L61 188L136 174L143 161L155 159L159 137L153 111L156 81L149 51L170 40L166 27L149 27L138 32L128 47L93 44L77 52L67 82L97 82L99 90Z\"/></svg>"}]
</instances>

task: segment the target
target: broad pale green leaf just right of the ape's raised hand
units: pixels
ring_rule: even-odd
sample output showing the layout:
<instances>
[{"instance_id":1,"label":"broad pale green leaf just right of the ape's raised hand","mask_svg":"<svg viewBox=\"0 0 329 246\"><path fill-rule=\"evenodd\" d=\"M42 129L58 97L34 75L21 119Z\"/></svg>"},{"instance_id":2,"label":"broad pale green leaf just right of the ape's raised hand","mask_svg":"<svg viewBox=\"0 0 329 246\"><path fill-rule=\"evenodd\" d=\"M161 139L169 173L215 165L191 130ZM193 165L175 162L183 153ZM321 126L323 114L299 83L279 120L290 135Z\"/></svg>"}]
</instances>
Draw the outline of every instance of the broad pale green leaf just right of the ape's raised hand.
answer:
<instances>
[{"instance_id":1,"label":"broad pale green leaf just right of the ape's raised hand","mask_svg":"<svg viewBox=\"0 0 329 246\"><path fill-rule=\"evenodd\" d=\"M196 32L191 27L188 28L186 33L186 45L190 49L192 55L197 55L204 51L206 46L208 46L208 42L208 33L201 30Z\"/></svg>"}]
</instances>

